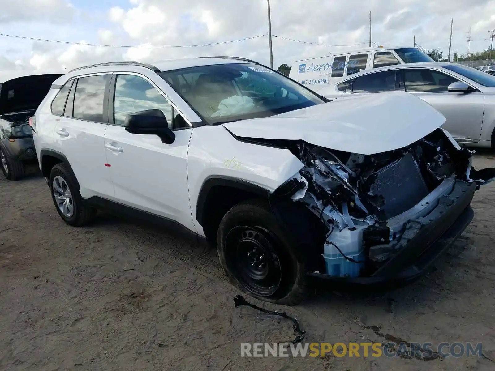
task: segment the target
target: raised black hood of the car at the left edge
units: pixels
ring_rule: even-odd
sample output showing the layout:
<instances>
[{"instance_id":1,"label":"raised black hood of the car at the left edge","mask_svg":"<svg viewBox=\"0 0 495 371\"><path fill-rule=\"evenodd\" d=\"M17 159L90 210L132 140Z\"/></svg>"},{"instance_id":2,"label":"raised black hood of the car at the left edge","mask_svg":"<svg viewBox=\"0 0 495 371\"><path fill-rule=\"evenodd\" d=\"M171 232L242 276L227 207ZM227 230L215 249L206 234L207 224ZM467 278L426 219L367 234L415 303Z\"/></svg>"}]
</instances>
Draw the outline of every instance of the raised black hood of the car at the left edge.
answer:
<instances>
[{"instance_id":1,"label":"raised black hood of the car at the left edge","mask_svg":"<svg viewBox=\"0 0 495 371\"><path fill-rule=\"evenodd\" d=\"M37 109L61 74L17 77L0 84L0 115Z\"/></svg>"}]
</instances>

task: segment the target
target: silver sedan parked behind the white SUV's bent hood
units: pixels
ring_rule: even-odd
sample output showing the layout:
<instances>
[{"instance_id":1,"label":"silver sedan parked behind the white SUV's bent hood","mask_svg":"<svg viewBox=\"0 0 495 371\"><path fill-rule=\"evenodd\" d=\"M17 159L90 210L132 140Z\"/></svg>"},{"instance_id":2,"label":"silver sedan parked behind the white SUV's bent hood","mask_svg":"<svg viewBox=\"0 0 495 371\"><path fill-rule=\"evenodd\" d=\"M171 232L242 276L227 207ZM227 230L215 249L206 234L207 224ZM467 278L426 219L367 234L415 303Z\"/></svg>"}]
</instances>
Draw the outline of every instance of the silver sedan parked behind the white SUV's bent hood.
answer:
<instances>
[{"instance_id":1,"label":"silver sedan parked behind the white SUV's bent hood","mask_svg":"<svg viewBox=\"0 0 495 371\"><path fill-rule=\"evenodd\" d=\"M408 92L431 104L446 117L442 128L459 143L495 147L495 76L475 68L446 62L388 66L317 92L336 99L390 91Z\"/></svg>"}]
</instances>

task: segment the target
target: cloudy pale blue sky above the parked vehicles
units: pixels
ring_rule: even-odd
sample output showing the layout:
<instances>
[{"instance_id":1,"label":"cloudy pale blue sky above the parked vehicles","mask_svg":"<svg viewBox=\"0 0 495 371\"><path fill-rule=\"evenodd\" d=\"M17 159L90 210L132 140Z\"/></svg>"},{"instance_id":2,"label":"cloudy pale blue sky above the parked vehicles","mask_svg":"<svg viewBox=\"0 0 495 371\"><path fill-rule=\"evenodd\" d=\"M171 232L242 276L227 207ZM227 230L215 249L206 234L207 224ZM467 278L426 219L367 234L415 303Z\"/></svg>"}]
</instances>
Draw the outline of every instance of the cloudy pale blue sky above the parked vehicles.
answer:
<instances>
[{"instance_id":1,"label":"cloudy pale blue sky above the parked vehicles","mask_svg":"<svg viewBox=\"0 0 495 371\"><path fill-rule=\"evenodd\" d=\"M110 60L162 60L236 55L269 64L266 0L0 0L0 34L68 42L49 43L0 36L0 74L58 72ZM413 45L448 53L490 46L495 0L271 0L274 65L291 64L368 45ZM256 37L256 38L253 38ZM290 41L283 38L308 43ZM225 43L232 40L250 40ZM103 47L70 43L138 47ZM190 46L224 43L197 47ZM376 45L376 44L374 44ZM57 71L58 70L58 71Z\"/></svg>"}]
</instances>

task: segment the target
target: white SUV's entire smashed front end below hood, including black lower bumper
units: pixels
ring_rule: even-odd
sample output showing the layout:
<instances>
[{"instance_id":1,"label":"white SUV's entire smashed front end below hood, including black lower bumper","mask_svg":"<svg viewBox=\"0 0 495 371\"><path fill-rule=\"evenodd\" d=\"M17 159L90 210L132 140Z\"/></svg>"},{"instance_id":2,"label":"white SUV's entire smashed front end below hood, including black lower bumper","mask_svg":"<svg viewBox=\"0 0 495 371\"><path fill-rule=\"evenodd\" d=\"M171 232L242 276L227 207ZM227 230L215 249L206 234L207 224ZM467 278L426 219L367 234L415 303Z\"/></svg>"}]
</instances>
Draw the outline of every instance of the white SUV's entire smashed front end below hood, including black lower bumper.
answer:
<instances>
[{"instance_id":1,"label":"white SUV's entire smashed front end below hood, including black lower bumper","mask_svg":"<svg viewBox=\"0 0 495 371\"><path fill-rule=\"evenodd\" d=\"M495 177L495 169L474 170L472 152L442 129L372 155L305 141L265 144L290 149L304 164L270 202L303 246L306 268L324 278L418 276L464 231L474 191Z\"/></svg>"}]
</instances>

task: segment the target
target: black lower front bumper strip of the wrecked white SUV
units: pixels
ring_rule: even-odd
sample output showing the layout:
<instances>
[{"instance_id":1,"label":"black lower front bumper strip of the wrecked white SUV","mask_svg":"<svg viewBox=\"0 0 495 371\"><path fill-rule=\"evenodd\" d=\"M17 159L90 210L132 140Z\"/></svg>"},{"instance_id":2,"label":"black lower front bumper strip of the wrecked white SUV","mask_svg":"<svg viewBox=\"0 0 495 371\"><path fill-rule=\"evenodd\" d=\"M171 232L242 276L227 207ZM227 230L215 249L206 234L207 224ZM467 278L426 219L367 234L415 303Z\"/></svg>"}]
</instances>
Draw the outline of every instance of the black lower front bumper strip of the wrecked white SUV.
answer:
<instances>
[{"instance_id":1,"label":"black lower front bumper strip of the wrecked white SUV","mask_svg":"<svg viewBox=\"0 0 495 371\"><path fill-rule=\"evenodd\" d=\"M347 283L376 284L410 281L418 278L471 223L470 206L476 184L455 181L452 191L440 198L428 215L407 223L393 256L369 277L333 277L310 272L309 275Z\"/></svg>"}]
</instances>

